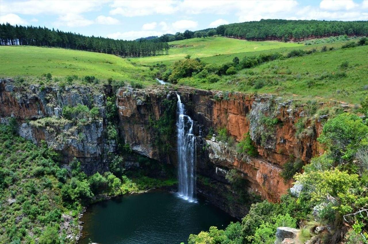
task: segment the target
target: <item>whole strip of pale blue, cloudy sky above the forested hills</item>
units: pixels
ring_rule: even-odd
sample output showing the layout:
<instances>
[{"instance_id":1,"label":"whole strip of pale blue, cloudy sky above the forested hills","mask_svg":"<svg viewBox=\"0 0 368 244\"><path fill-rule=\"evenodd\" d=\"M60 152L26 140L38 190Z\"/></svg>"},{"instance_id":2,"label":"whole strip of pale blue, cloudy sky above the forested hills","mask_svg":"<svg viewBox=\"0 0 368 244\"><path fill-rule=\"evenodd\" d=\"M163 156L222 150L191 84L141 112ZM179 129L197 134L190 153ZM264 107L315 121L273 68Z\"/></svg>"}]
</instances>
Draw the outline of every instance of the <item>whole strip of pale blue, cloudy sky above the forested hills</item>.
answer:
<instances>
[{"instance_id":1,"label":"whole strip of pale blue, cloudy sky above the forested hills","mask_svg":"<svg viewBox=\"0 0 368 244\"><path fill-rule=\"evenodd\" d=\"M262 18L368 20L368 0L0 0L0 23L40 25L114 39Z\"/></svg>"}]
</instances>

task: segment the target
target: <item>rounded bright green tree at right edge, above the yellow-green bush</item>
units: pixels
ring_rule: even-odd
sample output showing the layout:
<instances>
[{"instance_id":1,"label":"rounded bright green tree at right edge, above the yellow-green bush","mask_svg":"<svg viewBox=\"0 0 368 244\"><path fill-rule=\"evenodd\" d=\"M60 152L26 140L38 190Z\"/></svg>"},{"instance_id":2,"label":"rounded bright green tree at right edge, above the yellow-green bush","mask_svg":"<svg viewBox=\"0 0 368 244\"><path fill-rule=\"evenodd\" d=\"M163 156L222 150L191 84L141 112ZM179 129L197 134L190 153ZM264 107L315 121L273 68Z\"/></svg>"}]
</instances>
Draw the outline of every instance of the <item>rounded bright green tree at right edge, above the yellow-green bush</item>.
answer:
<instances>
[{"instance_id":1,"label":"rounded bright green tree at right edge, above the yellow-green bush","mask_svg":"<svg viewBox=\"0 0 368 244\"><path fill-rule=\"evenodd\" d=\"M351 159L357 150L368 145L368 126L353 114L340 114L323 126L318 141L324 143L337 161Z\"/></svg>"}]
</instances>

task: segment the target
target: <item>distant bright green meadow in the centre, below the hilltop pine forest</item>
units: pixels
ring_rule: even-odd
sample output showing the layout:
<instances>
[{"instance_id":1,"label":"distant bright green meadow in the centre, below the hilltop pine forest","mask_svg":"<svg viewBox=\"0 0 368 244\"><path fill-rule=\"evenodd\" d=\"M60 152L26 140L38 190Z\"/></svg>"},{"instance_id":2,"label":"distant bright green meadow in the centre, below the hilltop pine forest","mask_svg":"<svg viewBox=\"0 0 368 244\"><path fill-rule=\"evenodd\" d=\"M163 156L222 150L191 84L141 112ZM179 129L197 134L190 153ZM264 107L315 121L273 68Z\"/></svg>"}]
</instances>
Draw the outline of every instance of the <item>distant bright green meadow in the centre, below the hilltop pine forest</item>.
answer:
<instances>
[{"instance_id":1,"label":"distant bright green meadow in the centre, below the hilltop pine forest","mask_svg":"<svg viewBox=\"0 0 368 244\"><path fill-rule=\"evenodd\" d=\"M142 57L131 60L144 65L153 65L161 62L167 64L175 60L182 59L186 55L191 55L192 58L203 58L216 55L229 55L232 53L254 52L274 48L302 46L302 44L298 43L285 43L276 41L255 42L220 36L174 41L169 42L169 45L169 55Z\"/></svg>"}]
</instances>

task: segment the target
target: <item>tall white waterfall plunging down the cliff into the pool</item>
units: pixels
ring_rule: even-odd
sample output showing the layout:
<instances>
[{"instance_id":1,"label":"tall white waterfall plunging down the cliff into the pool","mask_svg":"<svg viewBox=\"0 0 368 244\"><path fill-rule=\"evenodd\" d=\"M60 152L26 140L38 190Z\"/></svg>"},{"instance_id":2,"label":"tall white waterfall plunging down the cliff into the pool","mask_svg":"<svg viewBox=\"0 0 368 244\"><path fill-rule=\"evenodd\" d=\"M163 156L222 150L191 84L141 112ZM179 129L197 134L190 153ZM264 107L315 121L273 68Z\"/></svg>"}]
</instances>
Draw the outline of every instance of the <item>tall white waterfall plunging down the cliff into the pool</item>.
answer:
<instances>
[{"instance_id":1,"label":"tall white waterfall plunging down the cliff into the pool","mask_svg":"<svg viewBox=\"0 0 368 244\"><path fill-rule=\"evenodd\" d=\"M184 104L180 95L177 104L177 136L178 136L178 178L179 196L190 202L195 199L195 136L193 134L193 120L185 115Z\"/></svg>"}]
</instances>

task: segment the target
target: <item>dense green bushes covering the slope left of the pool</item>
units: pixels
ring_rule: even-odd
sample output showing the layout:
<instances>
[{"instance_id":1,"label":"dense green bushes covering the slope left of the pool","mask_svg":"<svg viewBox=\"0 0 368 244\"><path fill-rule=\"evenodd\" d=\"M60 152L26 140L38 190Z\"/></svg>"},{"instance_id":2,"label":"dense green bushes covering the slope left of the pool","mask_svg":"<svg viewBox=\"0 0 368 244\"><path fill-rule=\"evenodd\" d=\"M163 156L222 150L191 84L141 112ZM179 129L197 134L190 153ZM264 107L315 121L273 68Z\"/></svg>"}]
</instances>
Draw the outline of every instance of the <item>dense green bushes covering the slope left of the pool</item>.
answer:
<instances>
[{"instance_id":1,"label":"dense green bushes covering the slope left of the pool","mask_svg":"<svg viewBox=\"0 0 368 244\"><path fill-rule=\"evenodd\" d=\"M112 164L123 168L121 157L112 157ZM59 155L46 143L38 147L15 136L11 126L0 124L0 202L15 199L12 205L0 208L1 243L36 243L36 238L43 244L68 243L59 233L62 213L71 215L71 223L77 223L82 206L95 201L94 195L115 196L177 183L175 179L123 175L123 184L110 172L87 177L78 160L72 160L69 166L69 172L60 168ZM77 233L77 226L71 224L71 234Z\"/></svg>"}]
</instances>

